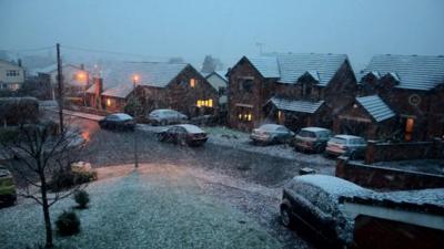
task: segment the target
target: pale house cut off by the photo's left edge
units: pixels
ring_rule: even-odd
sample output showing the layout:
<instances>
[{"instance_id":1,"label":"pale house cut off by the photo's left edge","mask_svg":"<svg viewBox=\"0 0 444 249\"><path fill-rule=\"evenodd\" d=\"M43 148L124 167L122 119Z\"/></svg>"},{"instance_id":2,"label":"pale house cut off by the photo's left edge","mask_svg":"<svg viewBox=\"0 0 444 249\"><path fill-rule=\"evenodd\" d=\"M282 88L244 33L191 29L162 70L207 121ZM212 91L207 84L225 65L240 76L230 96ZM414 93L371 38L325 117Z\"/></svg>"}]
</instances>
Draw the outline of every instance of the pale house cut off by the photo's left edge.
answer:
<instances>
[{"instance_id":1,"label":"pale house cut off by the photo's left edge","mask_svg":"<svg viewBox=\"0 0 444 249\"><path fill-rule=\"evenodd\" d=\"M23 82L23 68L12 62L0 60L0 89L17 91Z\"/></svg>"}]
</instances>

